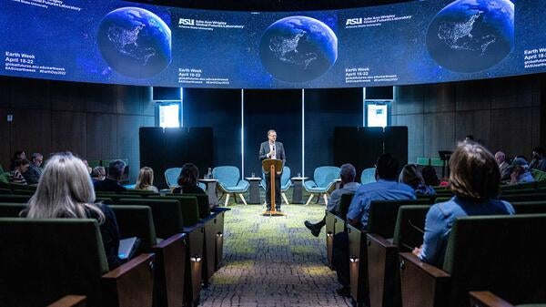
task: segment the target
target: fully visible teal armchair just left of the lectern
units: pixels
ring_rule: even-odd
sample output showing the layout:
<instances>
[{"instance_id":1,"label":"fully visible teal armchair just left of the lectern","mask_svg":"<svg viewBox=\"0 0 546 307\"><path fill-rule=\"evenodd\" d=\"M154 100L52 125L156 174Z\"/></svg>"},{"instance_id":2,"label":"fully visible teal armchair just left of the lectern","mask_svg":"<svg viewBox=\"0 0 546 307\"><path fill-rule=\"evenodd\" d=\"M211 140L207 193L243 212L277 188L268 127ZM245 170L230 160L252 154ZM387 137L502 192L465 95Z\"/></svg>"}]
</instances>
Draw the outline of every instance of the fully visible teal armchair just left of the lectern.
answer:
<instances>
[{"instance_id":1,"label":"fully visible teal armchair just left of the lectern","mask_svg":"<svg viewBox=\"0 0 546 307\"><path fill-rule=\"evenodd\" d=\"M243 203L246 205L247 200L243 196L243 193L247 192L248 184L247 180L241 179L241 173L239 169L231 166L222 166L212 169L212 177L217 179L217 189L219 189L222 194L226 194L226 202L229 200L229 194L238 194L238 196L243 200ZM220 197L221 199L222 197Z\"/></svg>"}]
</instances>

